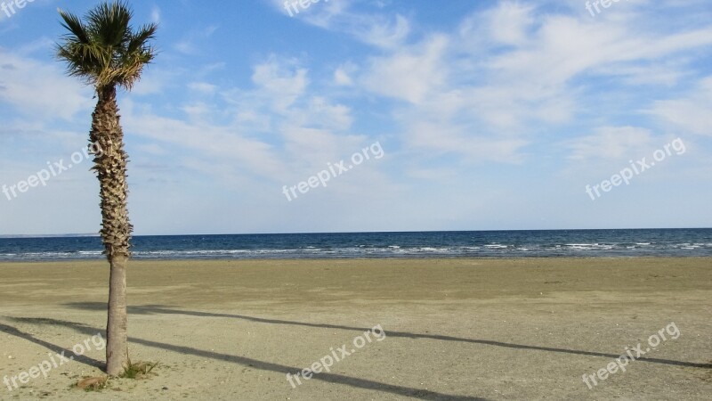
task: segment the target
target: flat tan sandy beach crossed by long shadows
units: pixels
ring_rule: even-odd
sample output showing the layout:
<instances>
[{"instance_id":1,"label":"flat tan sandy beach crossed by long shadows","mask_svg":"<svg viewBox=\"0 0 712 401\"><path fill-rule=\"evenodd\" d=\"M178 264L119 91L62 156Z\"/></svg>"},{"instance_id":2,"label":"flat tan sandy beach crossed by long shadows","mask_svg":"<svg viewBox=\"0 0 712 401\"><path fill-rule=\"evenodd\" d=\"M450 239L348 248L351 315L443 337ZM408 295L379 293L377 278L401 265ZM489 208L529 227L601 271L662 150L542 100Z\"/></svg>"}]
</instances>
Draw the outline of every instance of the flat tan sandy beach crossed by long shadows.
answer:
<instances>
[{"instance_id":1,"label":"flat tan sandy beach crossed by long shadows","mask_svg":"<svg viewBox=\"0 0 712 401\"><path fill-rule=\"evenodd\" d=\"M0 399L712 399L712 258L141 261L128 277L130 354L157 375L85 392L70 385L101 374L85 340L103 335L107 264L0 264L0 376L90 348ZM582 381L660 330L626 372Z\"/></svg>"}]
</instances>

